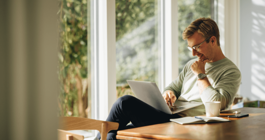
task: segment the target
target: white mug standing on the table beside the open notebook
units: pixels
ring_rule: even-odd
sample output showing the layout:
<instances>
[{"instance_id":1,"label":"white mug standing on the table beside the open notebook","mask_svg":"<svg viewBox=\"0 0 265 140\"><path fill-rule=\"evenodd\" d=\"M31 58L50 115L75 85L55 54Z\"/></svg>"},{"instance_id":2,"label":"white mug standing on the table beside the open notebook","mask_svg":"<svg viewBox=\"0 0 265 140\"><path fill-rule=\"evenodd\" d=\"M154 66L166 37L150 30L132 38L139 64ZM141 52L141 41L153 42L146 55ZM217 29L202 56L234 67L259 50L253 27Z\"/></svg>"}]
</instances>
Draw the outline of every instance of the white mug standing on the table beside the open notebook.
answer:
<instances>
[{"instance_id":1,"label":"white mug standing on the table beside the open notebook","mask_svg":"<svg viewBox=\"0 0 265 140\"><path fill-rule=\"evenodd\" d=\"M213 117L220 115L221 102L205 102L206 116Z\"/></svg>"}]
</instances>

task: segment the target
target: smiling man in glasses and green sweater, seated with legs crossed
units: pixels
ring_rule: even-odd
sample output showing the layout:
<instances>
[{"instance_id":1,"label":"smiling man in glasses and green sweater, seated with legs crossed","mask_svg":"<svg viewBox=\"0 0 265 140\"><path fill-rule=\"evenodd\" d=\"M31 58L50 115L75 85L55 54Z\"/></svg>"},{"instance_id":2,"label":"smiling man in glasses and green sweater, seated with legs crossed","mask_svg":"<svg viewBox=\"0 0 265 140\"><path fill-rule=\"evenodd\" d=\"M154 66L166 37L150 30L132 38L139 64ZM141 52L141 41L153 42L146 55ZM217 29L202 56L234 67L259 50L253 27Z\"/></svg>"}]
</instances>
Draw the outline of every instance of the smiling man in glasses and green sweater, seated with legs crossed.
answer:
<instances>
[{"instance_id":1,"label":"smiling man in glasses and green sweater, seated with legs crossed","mask_svg":"<svg viewBox=\"0 0 265 140\"><path fill-rule=\"evenodd\" d=\"M229 109L241 82L241 74L220 47L219 29L210 18L199 18L182 34L188 49L198 58L190 60L163 92L167 105L180 101L220 101L221 110ZM119 98L106 121L119 123L118 130L168 122L170 118L205 114L201 105L176 114L166 114L133 96ZM132 124L127 125L129 122ZM107 140L115 140L117 131L110 131ZM100 134L98 134L100 139Z\"/></svg>"}]
</instances>

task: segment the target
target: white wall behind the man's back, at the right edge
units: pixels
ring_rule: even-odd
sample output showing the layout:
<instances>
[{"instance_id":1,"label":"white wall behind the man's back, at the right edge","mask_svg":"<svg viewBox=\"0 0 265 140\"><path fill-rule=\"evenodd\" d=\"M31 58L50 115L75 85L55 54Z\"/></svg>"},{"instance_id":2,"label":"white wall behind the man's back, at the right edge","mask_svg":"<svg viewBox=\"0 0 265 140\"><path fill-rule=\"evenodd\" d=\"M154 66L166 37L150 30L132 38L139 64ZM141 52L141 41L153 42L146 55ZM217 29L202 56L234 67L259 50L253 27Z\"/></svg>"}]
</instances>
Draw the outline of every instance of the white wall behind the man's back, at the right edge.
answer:
<instances>
[{"instance_id":1,"label":"white wall behind the man's back, at the right edge","mask_svg":"<svg viewBox=\"0 0 265 140\"><path fill-rule=\"evenodd\" d=\"M240 94L265 100L265 0L240 0Z\"/></svg>"}]
</instances>

